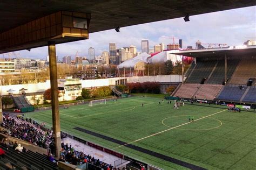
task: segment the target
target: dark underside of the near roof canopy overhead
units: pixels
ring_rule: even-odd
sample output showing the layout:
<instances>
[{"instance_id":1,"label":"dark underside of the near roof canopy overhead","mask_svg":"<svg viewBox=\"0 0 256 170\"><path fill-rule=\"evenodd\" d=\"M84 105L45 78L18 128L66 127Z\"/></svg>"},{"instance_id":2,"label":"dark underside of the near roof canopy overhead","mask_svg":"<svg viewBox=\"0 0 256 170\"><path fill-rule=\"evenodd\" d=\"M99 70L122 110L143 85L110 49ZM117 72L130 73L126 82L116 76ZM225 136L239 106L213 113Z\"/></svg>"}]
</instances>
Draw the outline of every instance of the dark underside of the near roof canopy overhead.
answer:
<instances>
[{"instance_id":1,"label":"dark underside of the near roof canopy overhead","mask_svg":"<svg viewBox=\"0 0 256 170\"><path fill-rule=\"evenodd\" d=\"M254 6L256 1L1 1L0 33L51 13L76 11L91 13L89 32L98 32L159 20Z\"/></svg>"}]
</instances>

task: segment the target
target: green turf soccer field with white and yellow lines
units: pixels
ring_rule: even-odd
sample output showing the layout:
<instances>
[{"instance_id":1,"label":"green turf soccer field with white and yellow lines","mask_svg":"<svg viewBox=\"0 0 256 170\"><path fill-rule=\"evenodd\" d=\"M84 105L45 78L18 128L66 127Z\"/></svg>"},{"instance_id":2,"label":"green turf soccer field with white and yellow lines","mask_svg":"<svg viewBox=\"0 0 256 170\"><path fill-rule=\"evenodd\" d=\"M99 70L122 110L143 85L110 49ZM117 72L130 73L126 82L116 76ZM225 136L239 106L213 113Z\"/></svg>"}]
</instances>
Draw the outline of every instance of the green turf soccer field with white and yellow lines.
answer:
<instances>
[{"instance_id":1,"label":"green turf soccer field with white and yellow lines","mask_svg":"<svg viewBox=\"0 0 256 170\"><path fill-rule=\"evenodd\" d=\"M188 103L173 109L173 102L167 104L166 100L162 102L159 98L139 96L92 107L88 104L69 109L60 107L59 111L62 131L160 168L186 169L129 146L138 146L207 169L256 167L255 112L229 112L225 107ZM35 111L25 116L52 124L51 110ZM188 122L188 116L193 116L194 122ZM87 134L79 128L124 144Z\"/></svg>"}]
</instances>

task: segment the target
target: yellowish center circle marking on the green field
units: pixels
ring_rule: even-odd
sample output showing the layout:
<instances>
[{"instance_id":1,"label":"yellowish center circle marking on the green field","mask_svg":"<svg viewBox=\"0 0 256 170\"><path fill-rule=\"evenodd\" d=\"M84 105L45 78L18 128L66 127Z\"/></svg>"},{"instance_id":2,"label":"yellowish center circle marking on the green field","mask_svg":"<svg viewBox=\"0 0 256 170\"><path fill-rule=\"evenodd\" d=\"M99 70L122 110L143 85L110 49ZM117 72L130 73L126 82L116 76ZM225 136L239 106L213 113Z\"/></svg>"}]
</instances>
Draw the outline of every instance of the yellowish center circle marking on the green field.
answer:
<instances>
[{"instance_id":1,"label":"yellowish center circle marking on the green field","mask_svg":"<svg viewBox=\"0 0 256 170\"><path fill-rule=\"evenodd\" d=\"M173 118L172 121L175 121L175 119L177 120L177 118L179 118L179 117L185 117L184 119L188 121L188 116L191 116L191 115L179 115L179 116L167 117L167 118L164 118L164 119L162 120L162 124L163 124L164 126L168 127L168 128L175 128L177 125L173 125L173 126L168 125L168 122L167 122L168 119ZM204 117L204 116L194 116L194 117ZM207 117L207 118L205 118L205 120L206 120L206 119L213 119L214 122L218 122L218 124L217 124L217 125L214 125L212 128L202 128L202 129L175 128L175 129L179 129L179 130L191 130L191 131L212 130L212 129L217 129L217 128L219 128L219 127L223 124L219 119L216 119L216 118ZM203 120L204 120L204 119L201 119L201 120L197 121L197 119L194 119L195 122L191 122L191 123L189 123L189 124L198 124L198 122L203 121ZM187 123L187 122L186 122L186 123ZM207 123L206 123L206 124L207 124ZM186 125L187 125L187 124L186 124ZM200 125L200 124L199 124L199 125Z\"/></svg>"}]
</instances>

